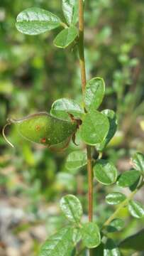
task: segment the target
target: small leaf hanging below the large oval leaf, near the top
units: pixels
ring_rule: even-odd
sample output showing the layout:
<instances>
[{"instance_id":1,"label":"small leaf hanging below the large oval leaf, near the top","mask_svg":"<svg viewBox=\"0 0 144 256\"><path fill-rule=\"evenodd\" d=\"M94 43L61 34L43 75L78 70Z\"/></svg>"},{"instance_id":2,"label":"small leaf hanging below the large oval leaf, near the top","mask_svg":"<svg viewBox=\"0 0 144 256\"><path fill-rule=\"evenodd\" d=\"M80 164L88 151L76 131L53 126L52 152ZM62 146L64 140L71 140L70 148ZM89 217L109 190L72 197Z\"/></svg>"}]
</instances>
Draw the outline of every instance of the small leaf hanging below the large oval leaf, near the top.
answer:
<instances>
[{"instance_id":1,"label":"small leaf hanging below the large oval leaf, near the top","mask_svg":"<svg viewBox=\"0 0 144 256\"><path fill-rule=\"evenodd\" d=\"M55 38L54 45L58 48L66 48L78 36L77 28L70 26L70 28L63 29Z\"/></svg>"}]
</instances>

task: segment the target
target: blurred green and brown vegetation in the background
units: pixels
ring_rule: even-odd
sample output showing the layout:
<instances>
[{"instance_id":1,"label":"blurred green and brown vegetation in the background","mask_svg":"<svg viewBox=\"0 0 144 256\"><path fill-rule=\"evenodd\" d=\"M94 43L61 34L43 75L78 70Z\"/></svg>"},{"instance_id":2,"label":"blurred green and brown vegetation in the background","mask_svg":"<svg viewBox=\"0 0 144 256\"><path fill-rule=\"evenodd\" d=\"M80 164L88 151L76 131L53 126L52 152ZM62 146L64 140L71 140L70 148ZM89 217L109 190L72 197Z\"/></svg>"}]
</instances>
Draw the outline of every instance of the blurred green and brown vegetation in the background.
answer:
<instances>
[{"instance_id":1,"label":"blurred green and brown vegetation in the background","mask_svg":"<svg viewBox=\"0 0 144 256\"><path fill-rule=\"evenodd\" d=\"M77 46L55 48L52 41L59 29L33 37L16 30L16 16L32 6L63 18L58 0L0 1L1 131L7 117L49 112L60 97L82 101ZM85 0L85 9L87 79L104 78L102 109L118 114L118 132L104 158L111 159L119 171L128 170L131 155L144 153L144 2ZM23 141L13 127L6 129L6 134L15 148L0 135L0 255L35 256L41 242L65 225L58 205L62 195L78 194L87 218L87 171L65 169L67 153L77 149L74 144L67 151L53 153ZM111 190L113 187L96 186L95 182L94 213L99 224L113 212L104 203ZM138 193L140 201L142 195ZM115 234L116 241L135 233L144 223L129 218L125 209L121 216L127 228Z\"/></svg>"}]
</instances>

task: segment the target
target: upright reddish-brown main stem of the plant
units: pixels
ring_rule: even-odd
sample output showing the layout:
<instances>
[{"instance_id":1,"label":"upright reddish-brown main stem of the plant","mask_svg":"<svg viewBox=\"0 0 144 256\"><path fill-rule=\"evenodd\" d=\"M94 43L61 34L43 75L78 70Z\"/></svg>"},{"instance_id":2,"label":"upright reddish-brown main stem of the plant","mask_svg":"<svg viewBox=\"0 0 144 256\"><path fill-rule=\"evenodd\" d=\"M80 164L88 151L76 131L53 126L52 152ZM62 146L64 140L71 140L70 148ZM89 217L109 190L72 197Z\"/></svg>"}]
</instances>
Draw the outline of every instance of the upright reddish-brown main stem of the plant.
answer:
<instances>
[{"instance_id":1,"label":"upright reddish-brown main stem of the plant","mask_svg":"<svg viewBox=\"0 0 144 256\"><path fill-rule=\"evenodd\" d=\"M84 1L79 0L79 65L82 80L82 95L84 98L84 90L86 87L86 68L84 58ZM93 170L92 170L92 154L91 146L87 145L87 172L88 172L88 200L89 200L89 222L93 219ZM89 256L92 256L92 250L89 250Z\"/></svg>"}]
</instances>

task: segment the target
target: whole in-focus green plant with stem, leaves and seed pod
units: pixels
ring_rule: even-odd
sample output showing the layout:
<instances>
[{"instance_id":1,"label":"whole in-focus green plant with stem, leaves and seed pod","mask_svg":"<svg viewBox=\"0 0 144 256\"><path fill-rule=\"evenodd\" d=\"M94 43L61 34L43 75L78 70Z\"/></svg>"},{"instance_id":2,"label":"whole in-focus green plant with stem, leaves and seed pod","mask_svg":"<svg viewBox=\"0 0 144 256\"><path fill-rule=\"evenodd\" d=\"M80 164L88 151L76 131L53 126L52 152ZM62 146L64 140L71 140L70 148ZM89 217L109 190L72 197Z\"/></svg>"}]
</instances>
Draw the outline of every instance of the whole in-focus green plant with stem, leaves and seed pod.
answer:
<instances>
[{"instance_id":1,"label":"whole in-focus green plant with stem, leaves and seed pod","mask_svg":"<svg viewBox=\"0 0 144 256\"><path fill-rule=\"evenodd\" d=\"M79 132L84 144L83 149L72 151L67 156L66 167L67 169L80 169L87 166L89 221L83 218L84 213L79 198L73 195L62 197L60 208L68 224L45 241L39 256L84 256L88 254L118 256L124 255L123 250L144 250L143 230L122 242L112 240L110 235L110 233L117 233L126 228L124 220L118 218L118 213L122 208L128 208L133 218L144 217L144 207L134 199L135 193L144 184L144 156L141 153L135 153L131 159L131 170L122 174L118 174L116 166L111 161L103 159L104 149L116 134L118 126L116 113L113 110L99 110L105 94L104 80L99 77L86 80L84 1L62 0L62 11L64 21L47 10L35 7L26 9L18 14L16 28L21 33L30 36L47 33L57 27L62 28L54 39L54 45L58 48L77 45L83 101L79 104L75 100L62 98L52 104L50 114L38 112L19 120L8 119L6 125L15 125L23 139L55 150L65 149L70 139L75 142L75 137ZM4 130L5 128L6 126ZM92 157L95 151L98 152L97 159ZM114 206L113 214L101 225L96 223L96 216L93 213L94 179L101 186L115 184L114 191L112 190L105 198L107 204ZM123 194L121 188L128 188L129 193Z\"/></svg>"}]
</instances>

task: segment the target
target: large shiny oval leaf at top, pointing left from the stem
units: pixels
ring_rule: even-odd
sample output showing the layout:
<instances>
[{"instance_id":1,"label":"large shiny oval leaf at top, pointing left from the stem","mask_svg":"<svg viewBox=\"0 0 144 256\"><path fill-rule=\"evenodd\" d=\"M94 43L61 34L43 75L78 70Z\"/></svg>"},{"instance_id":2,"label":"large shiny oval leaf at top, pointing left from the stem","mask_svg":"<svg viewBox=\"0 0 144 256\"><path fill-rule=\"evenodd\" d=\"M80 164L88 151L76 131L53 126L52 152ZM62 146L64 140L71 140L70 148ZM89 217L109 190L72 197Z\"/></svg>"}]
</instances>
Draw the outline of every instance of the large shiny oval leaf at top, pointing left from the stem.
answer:
<instances>
[{"instance_id":1,"label":"large shiny oval leaf at top, pointing left from the stem","mask_svg":"<svg viewBox=\"0 0 144 256\"><path fill-rule=\"evenodd\" d=\"M40 8L29 8L18 14L16 28L21 33L38 35L60 26L60 18L50 11Z\"/></svg>"}]
</instances>

